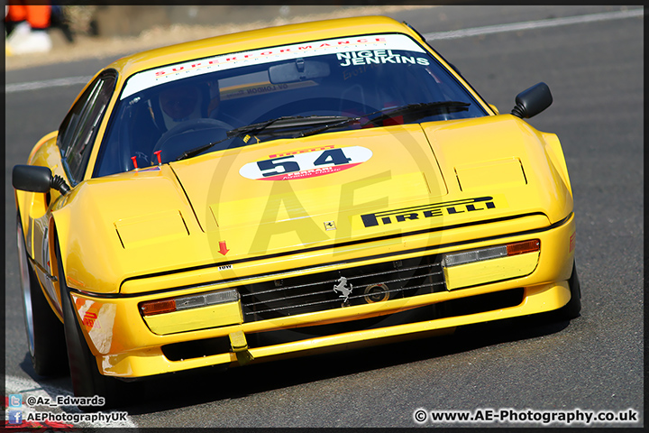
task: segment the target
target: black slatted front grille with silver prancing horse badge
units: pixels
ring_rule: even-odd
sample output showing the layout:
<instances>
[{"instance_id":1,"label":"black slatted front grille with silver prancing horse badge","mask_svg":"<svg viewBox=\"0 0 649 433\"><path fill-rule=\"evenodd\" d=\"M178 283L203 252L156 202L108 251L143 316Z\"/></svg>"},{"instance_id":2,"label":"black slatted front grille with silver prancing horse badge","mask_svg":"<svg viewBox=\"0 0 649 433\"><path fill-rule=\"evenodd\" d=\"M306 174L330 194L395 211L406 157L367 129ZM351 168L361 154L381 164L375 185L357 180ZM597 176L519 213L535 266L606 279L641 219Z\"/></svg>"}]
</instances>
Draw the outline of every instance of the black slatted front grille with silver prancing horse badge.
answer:
<instances>
[{"instance_id":1,"label":"black slatted front grille with silver prancing horse badge","mask_svg":"<svg viewBox=\"0 0 649 433\"><path fill-rule=\"evenodd\" d=\"M435 256L357 266L240 286L247 322L340 309L446 290Z\"/></svg>"}]
</instances>

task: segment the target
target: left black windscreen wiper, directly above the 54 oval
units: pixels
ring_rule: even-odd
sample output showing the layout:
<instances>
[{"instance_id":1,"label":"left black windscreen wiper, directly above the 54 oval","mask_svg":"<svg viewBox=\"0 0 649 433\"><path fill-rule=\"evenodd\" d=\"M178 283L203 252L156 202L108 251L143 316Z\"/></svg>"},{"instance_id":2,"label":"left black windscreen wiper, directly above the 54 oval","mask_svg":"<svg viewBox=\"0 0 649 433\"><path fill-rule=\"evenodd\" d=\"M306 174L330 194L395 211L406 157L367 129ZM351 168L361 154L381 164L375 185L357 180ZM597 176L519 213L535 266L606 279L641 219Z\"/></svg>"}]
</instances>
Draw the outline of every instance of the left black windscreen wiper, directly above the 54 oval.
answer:
<instances>
[{"instance_id":1,"label":"left black windscreen wiper, directly above the 54 oval","mask_svg":"<svg viewBox=\"0 0 649 433\"><path fill-rule=\"evenodd\" d=\"M291 129L303 129L305 127L312 127L318 124L331 124L332 122L346 122L350 119L353 118L344 115L284 115L275 119L267 120L265 122L247 124L239 128L234 128L226 133L227 137L225 137L223 140L207 143L195 149L190 149L187 152L183 152L180 156L178 156L176 161L185 160L187 158L196 156L214 147L218 143L223 143L224 141L230 140L231 138L235 137L241 137L244 135L257 135L261 133L286 134Z\"/></svg>"}]
</instances>

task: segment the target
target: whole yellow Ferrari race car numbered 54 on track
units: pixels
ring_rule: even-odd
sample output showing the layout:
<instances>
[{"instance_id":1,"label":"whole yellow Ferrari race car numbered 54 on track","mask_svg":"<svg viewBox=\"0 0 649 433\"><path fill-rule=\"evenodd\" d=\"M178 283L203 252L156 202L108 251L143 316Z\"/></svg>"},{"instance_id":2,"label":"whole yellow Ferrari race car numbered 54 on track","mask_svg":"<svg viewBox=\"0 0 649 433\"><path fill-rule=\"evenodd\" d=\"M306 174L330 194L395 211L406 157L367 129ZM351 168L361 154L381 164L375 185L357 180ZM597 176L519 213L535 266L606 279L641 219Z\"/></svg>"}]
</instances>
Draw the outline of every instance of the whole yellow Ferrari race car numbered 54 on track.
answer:
<instances>
[{"instance_id":1,"label":"whole yellow Ferrari race car numbered 54 on track","mask_svg":"<svg viewBox=\"0 0 649 433\"><path fill-rule=\"evenodd\" d=\"M580 311L561 144L406 23L362 17L116 60L13 170L36 373L78 396ZM394 338L393 338L394 337Z\"/></svg>"}]
</instances>

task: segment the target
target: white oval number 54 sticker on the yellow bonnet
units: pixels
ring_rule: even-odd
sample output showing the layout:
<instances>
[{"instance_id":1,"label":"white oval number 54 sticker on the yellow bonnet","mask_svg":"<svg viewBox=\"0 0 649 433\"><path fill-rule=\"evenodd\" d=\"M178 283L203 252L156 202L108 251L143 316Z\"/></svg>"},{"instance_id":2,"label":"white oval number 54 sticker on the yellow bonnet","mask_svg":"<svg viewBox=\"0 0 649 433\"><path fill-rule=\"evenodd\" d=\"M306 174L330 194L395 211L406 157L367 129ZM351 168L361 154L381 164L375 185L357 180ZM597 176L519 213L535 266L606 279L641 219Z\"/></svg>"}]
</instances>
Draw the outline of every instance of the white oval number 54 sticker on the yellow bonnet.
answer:
<instances>
[{"instance_id":1,"label":"white oval number 54 sticker on the yellow bonnet","mask_svg":"<svg viewBox=\"0 0 649 433\"><path fill-rule=\"evenodd\" d=\"M239 174L251 180L307 179L351 169L371 156L370 149L361 146L321 146L269 155L266 160L245 164Z\"/></svg>"}]
</instances>

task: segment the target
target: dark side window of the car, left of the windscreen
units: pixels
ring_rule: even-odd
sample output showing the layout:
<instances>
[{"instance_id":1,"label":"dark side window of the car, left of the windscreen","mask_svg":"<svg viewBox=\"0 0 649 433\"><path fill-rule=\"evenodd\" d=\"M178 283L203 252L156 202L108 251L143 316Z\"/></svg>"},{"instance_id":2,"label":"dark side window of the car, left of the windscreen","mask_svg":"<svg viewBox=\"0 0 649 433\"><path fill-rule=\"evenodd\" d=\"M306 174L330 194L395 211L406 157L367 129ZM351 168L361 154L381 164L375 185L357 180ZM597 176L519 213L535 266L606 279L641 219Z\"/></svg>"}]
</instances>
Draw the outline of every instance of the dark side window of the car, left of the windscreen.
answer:
<instances>
[{"instance_id":1,"label":"dark side window of the car, left of the windscreen","mask_svg":"<svg viewBox=\"0 0 649 433\"><path fill-rule=\"evenodd\" d=\"M105 108L113 95L114 71L100 75L78 98L59 128L59 149L70 181L83 179Z\"/></svg>"}]
</instances>

